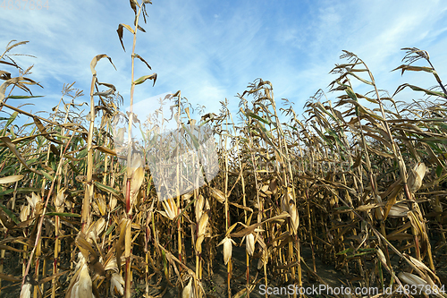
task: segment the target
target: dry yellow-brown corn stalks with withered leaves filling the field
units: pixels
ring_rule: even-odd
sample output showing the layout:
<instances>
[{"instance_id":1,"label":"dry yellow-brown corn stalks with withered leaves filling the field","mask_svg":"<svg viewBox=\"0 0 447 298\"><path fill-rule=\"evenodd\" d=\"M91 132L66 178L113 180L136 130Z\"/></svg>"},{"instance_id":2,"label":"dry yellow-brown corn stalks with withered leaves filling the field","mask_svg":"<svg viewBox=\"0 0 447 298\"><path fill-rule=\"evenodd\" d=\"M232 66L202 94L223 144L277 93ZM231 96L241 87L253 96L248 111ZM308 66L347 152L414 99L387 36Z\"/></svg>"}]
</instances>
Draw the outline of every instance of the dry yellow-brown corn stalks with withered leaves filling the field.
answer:
<instances>
[{"instance_id":1,"label":"dry yellow-brown corn stalks with withered leaves filling the field","mask_svg":"<svg viewBox=\"0 0 447 298\"><path fill-rule=\"evenodd\" d=\"M130 3L135 26L117 32L123 48L123 34L133 35L132 106L134 89L157 76L133 77L136 67L150 69L135 52L150 1ZM39 100L42 86L14 60L26 43L12 41L0 55L1 297L274 297L259 287L327 285L318 261L345 287L392 289L369 297L447 296L447 90L426 51L403 48L394 71L432 73L435 88L406 83L391 96L366 62L343 51L331 72L333 101L320 89L303 115L257 79L238 94L235 115L225 99L194 119L178 91L161 98L161 121L145 121L122 113L117 89L99 82L97 63L114 67L107 55L90 64L89 115L79 113L83 91L73 84L48 117L27 113L14 100ZM353 81L371 91L357 93ZM395 101L403 89L424 99ZM209 125L218 174L159 200L148 152L117 149L117 115L147 142L173 115ZM19 116L30 121L18 124ZM223 283L213 285L219 265ZM400 290L412 287L432 292Z\"/></svg>"}]
</instances>

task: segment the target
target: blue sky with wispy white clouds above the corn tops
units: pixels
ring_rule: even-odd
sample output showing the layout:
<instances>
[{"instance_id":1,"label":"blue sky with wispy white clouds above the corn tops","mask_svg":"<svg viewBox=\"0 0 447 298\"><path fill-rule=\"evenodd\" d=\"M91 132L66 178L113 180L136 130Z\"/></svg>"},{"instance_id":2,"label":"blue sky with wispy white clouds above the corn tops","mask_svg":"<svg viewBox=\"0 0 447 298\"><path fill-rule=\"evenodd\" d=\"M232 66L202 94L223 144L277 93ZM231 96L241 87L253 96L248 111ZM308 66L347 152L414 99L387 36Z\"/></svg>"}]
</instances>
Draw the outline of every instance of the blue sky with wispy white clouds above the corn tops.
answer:
<instances>
[{"instance_id":1,"label":"blue sky with wispy white clouds above the corn tops","mask_svg":"<svg viewBox=\"0 0 447 298\"><path fill-rule=\"evenodd\" d=\"M48 9L41 10L23 9L24 4L21 10L0 8L0 50L11 39L30 41L14 53L37 56L17 61L25 68L34 64L30 78L45 89L33 91L46 97L33 99L35 106L28 109L49 111L59 101L63 83L73 81L86 94L78 102L89 101L89 64L99 54L109 55L117 71L100 61L98 81L114 84L129 104L131 34L124 30L123 52L116 33L119 23L133 23L129 1L48 0ZM327 90L335 78L328 72L342 63L343 49L362 58L378 87L391 94L403 82L430 87L435 81L428 73L401 77L390 71L401 64L401 47L419 47L428 51L447 81L446 12L447 5L436 0L154 0L148 5L148 23L141 23L147 33L139 31L136 47L152 71L137 63L136 78L153 72L158 78L155 87L152 81L137 86L134 100L180 89L193 106L206 106L207 112L217 113L219 101L228 98L235 113L237 93L262 78L273 83L277 102L288 98L301 113L306 100L317 89ZM4 66L2 70L13 72ZM405 91L395 99L420 97ZM19 101L10 104L17 106Z\"/></svg>"}]
</instances>

